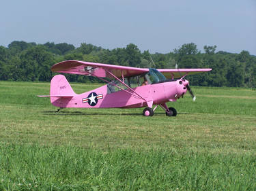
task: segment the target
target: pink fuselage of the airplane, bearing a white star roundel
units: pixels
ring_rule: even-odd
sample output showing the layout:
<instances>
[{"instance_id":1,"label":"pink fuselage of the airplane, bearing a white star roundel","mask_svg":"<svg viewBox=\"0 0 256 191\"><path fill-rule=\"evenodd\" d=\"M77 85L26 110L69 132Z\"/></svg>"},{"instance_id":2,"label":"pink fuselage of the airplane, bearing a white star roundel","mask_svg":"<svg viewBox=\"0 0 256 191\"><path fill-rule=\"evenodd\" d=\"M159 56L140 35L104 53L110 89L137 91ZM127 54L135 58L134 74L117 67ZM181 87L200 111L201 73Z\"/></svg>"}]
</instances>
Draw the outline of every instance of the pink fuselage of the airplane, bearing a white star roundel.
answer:
<instances>
[{"instance_id":1,"label":"pink fuselage of the airplane, bearing a white star roundel","mask_svg":"<svg viewBox=\"0 0 256 191\"><path fill-rule=\"evenodd\" d=\"M107 85L89 92L74 94L73 97L51 98L56 107L86 107L86 108L134 108L146 107L149 102L159 105L168 101L176 101L186 93L187 80L162 82L132 88L134 92L119 90L109 93ZM63 89L63 84L58 87ZM127 89L126 89L127 90ZM139 94L139 96L138 96Z\"/></svg>"}]
</instances>

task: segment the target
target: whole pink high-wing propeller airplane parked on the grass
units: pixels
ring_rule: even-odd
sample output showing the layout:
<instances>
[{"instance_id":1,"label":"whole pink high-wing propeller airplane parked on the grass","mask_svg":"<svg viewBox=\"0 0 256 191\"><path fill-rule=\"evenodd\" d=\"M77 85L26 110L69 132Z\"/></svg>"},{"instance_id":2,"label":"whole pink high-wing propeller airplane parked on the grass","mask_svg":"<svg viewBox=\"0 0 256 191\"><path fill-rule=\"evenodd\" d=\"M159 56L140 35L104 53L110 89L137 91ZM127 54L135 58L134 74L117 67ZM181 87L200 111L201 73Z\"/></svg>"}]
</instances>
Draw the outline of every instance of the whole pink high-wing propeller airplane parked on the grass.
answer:
<instances>
[{"instance_id":1,"label":"whole pink high-wing propeller airplane parked on the grass","mask_svg":"<svg viewBox=\"0 0 256 191\"><path fill-rule=\"evenodd\" d=\"M76 94L64 75L55 75L51 80L50 95L39 97L50 97L51 103L59 109L145 107L143 116L153 116L159 105L167 116L176 116L176 109L167 107L167 102L177 101L187 90L195 101L195 96L188 86L189 82L184 80L184 77L211 70L145 69L66 60L53 65L51 71L94 76L107 84L89 92ZM177 77L181 78L174 80Z\"/></svg>"}]
</instances>

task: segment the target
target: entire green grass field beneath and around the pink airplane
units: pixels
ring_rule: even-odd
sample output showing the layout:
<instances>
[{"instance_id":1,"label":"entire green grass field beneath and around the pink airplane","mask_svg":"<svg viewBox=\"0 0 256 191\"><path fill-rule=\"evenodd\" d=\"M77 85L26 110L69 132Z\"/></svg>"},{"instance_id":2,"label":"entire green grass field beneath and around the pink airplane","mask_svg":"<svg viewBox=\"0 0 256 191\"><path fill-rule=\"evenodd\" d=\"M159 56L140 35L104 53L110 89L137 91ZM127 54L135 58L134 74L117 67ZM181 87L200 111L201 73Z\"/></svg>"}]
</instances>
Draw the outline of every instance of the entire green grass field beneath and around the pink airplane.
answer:
<instances>
[{"instance_id":1,"label":"entire green grass field beneath and around the pink airplane","mask_svg":"<svg viewBox=\"0 0 256 191\"><path fill-rule=\"evenodd\" d=\"M99 84L72 84L81 93ZM193 87L169 106L63 109L0 82L0 190L256 190L256 91Z\"/></svg>"}]
</instances>

